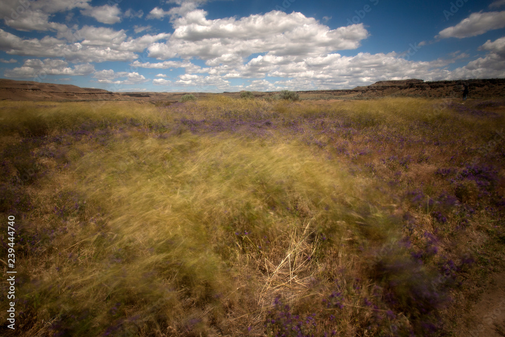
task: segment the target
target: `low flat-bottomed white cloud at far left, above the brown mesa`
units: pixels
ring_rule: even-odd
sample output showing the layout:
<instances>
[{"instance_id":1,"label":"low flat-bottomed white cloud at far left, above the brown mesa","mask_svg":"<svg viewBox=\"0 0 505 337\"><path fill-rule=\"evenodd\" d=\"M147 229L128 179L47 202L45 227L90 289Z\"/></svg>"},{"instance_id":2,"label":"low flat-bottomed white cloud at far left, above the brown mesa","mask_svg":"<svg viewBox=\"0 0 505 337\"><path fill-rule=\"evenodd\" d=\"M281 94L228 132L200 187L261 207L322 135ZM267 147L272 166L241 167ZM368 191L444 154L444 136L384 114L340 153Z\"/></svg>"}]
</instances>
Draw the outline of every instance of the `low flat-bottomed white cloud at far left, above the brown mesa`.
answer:
<instances>
[{"instance_id":1,"label":"low flat-bottomed white cloud at far left, above the brown mesa","mask_svg":"<svg viewBox=\"0 0 505 337\"><path fill-rule=\"evenodd\" d=\"M4 72L8 77L42 77L45 75L88 75L94 71L94 67L89 63L78 64L73 68L68 67L68 63L63 60L38 60L28 59L23 66L14 69L8 69Z\"/></svg>"}]
</instances>

